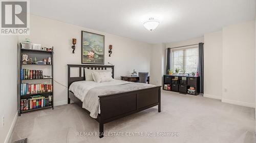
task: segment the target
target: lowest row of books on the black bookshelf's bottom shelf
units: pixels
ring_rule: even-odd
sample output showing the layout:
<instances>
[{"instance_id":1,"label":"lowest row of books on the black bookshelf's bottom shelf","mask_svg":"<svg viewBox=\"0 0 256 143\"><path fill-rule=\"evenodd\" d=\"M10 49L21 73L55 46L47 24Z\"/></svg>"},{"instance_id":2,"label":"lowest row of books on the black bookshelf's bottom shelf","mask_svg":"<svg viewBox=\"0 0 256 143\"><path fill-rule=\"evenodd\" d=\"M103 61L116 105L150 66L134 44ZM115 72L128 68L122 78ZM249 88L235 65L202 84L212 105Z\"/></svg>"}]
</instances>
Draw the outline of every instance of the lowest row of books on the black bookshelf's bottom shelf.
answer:
<instances>
[{"instance_id":1,"label":"lowest row of books on the black bookshelf's bottom shelf","mask_svg":"<svg viewBox=\"0 0 256 143\"><path fill-rule=\"evenodd\" d=\"M44 96L33 96L29 99L20 100L20 109L22 111L31 110L41 107L47 107L52 105L52 96L49 97Z\"/></svg>"}]
</instances>

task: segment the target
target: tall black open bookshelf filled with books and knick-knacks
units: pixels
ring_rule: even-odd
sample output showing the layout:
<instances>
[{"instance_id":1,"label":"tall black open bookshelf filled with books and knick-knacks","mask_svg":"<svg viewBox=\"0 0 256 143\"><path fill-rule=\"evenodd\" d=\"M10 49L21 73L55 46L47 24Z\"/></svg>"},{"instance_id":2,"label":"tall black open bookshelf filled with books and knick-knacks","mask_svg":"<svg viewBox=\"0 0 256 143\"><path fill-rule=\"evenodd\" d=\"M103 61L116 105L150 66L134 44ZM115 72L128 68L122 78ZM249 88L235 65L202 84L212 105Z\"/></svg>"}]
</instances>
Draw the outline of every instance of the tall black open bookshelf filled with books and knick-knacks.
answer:
<instances>
[{"instance_id":1,"label":"tall black open bookshelf filled with books and knick-knacks","mask_svg":"<svg viewBox=\"0 0 256 143\"><path fill-rule=\"evenodd\" d=\"M53 49L53 48L52 48ZM53 51L44 50L33 50L33 49L23 49L22 44L19 44L18 50L18 113L19 116L22 113L40 110L45 108L54 108L54 87L53 87ZM50 65L37 65L37 64L23 64L22 58L23 54L28 55L28 59L36 59L37 61L44 61L44 59L50 60ZM38 67L33 67L38 66ZM33 69L34 68L34 69ZM48 73L51 78L42 78L43 73ZM24 79L30 78L30 79ZM34 78L34 79L31 79ZM25 87L25 88L24 88ZM41 91L41 93L27 94L32 91ZM51 92L42 91L51 90ZM36 97L39 96L39 97ZM36 106L34 106L34 103ZM40 107L41 105L46 105ZM32 106L32 107L31 107ZM32 109L28 109L28 108ZM28 110L24 110L24 109Z\"/></svg>"}]
</instances>

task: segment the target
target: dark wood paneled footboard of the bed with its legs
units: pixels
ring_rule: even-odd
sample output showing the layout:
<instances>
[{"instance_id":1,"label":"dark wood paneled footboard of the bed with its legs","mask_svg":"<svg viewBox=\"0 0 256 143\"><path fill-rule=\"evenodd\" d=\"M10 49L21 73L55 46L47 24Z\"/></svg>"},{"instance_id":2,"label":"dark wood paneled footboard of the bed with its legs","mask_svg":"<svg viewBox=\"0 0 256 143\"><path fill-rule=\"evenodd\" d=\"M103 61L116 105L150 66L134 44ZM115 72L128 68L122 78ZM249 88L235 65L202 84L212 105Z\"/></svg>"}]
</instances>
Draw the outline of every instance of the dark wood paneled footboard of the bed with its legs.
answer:
<instances>
[{"instance_id":1,"label":"dark wood paneled footboard of the bed with its legs","mask_svg":"<svg viewBox=\"0 0 256 143\"><path fill-rule=\"evenodd\" d=\"M103 135L103 124L132 115L133 113L158 105L161 111L161 87L143 89L112 95L99 96L100 130ZM102 136L101 136L102 137Z\"/></svg>"}]
</instances>

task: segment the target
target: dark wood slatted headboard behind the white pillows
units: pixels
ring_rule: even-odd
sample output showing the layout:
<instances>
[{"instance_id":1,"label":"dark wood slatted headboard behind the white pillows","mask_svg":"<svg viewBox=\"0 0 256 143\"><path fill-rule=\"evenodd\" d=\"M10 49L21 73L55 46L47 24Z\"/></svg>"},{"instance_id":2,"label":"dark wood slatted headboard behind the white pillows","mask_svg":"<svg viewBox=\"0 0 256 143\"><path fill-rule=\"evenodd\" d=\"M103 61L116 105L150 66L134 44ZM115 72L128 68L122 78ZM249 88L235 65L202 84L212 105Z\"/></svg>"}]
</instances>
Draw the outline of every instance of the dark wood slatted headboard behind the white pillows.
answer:
<instances>
[{"instance_id":1,"label":"dark wood slatted headboard behind the white pillows","mask_svg":"<svg viewBox=\"0 0 256 143\"><path fill-rule=\"evenodd\" d=\"M71 68L79 68L79 76L78 77L71 77L70 76L70 69ZM71 83L75 81L85 80L86 76L84 75L84 68L91 69L91 70L106 70L112 69L112 77L114 78L114 66L110 65L68 65L68 89ZM83 76L82 76L83 71Z\"/></svg>"}]
</instances>

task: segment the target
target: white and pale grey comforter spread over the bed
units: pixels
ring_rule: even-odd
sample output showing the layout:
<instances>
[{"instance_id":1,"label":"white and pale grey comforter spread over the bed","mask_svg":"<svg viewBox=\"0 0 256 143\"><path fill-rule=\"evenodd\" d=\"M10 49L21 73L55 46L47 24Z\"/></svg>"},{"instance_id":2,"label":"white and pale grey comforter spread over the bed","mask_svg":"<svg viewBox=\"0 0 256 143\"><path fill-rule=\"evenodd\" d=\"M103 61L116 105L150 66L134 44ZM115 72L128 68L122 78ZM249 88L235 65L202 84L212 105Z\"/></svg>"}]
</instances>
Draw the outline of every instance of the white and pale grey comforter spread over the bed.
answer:
<instances>
[{"instance_id":1,"label":"white and pale grey comforter spread over the bed","mask_svg":"<svg viewBox=\"0 0 256 143\"><path fill-rule=\"evenodd\" d=\"M73 82L70 85L69 91L72 91L74 95L83 102L82 107L90 111L92 118L97 118L98 113L100 113L99 95L115 94L152 87L154 87L154 85L123 80L113 80L109 82L83 80Z\"/></svg>"}]
</instances>

